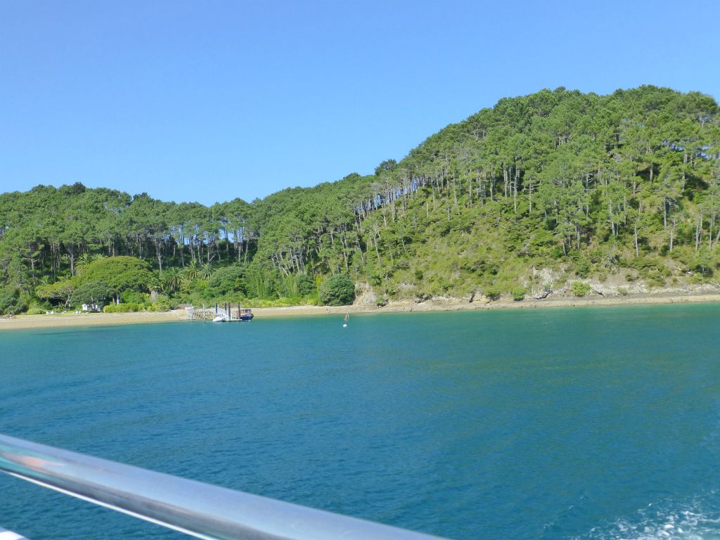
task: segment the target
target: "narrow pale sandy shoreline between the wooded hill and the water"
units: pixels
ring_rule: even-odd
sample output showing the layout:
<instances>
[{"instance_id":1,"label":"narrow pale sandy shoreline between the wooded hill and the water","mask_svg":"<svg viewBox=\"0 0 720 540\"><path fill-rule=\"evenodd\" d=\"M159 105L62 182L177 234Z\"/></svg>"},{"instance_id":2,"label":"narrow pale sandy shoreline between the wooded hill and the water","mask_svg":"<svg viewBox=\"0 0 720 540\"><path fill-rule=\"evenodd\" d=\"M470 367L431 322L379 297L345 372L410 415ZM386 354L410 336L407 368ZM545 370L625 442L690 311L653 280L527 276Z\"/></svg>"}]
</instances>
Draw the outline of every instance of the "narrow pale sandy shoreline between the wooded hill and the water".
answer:
<instances>
[{"instance_id":1,"label":"narrow pale sandy shoreline between the wooded hill and the water","mask_svg":"<svg viewBox=\"0 0 720 540\"><path fill-rule=\"evenodd\" d=\"M374 305L349 306L289 306L254 307L258 318L310 317L313 315L344 315L371 313L413 313L413 312L450 312L482 310L544 309L559 307L620 306L620 305L663 305L698 304L720 302L720 292L701 292L694 294L634 294L626 297L558 297L544 300L500 300L497 302L468 302L460 299L429 300L414 302L405 300L392 302L384 307ZM73 328L82 326L114 326L130 324L152 324L186 322L185 310L168 312L132 312L132 313L68 313L58 315L18 315L12 319L0 319L2 330L22 330L32 328Z\"/></svg>"}]
</instances>

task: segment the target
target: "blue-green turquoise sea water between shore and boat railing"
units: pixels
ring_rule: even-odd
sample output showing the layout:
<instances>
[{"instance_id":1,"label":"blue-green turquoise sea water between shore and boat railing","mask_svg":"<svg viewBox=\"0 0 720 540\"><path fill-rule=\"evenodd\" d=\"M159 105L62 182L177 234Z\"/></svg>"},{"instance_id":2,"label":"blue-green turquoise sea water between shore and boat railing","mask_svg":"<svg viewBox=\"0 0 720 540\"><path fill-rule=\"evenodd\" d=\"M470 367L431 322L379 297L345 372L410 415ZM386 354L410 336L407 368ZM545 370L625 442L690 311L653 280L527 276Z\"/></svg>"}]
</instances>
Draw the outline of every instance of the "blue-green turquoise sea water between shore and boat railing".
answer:
<instances>
[{"instance_id":1,"label":"blue-green turquoise sea water between shore and boat railing","mask_svg":"<svg viewBox=\"0 0 720 540\"><path fill-rule=\"evenodd\" d=\"M453 539L720 538L720 306L0 332L0 432ZM0 526L180 534L0 476Z\"/></svg>"}]
</instances>

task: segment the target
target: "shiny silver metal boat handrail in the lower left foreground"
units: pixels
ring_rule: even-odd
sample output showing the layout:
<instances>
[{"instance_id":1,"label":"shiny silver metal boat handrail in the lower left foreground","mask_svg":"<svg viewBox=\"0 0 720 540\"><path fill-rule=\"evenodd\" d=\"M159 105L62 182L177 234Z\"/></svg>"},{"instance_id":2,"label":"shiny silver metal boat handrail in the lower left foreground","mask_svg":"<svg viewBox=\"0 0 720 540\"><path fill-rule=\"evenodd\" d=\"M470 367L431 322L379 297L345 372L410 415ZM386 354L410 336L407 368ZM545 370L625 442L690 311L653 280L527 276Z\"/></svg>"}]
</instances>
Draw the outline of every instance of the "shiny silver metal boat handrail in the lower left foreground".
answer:
<instances>
[{"instance_id":1,"label":"shiny silver metal boat handrail in the lower left foreground","mask_svg":"<svg viewBox=\"0 0 720 540\"><path fill-rule=\"evenodd\" d=\"M0 471L206 540L431 540L0 434Z\"/></svg>"}]
</instances>

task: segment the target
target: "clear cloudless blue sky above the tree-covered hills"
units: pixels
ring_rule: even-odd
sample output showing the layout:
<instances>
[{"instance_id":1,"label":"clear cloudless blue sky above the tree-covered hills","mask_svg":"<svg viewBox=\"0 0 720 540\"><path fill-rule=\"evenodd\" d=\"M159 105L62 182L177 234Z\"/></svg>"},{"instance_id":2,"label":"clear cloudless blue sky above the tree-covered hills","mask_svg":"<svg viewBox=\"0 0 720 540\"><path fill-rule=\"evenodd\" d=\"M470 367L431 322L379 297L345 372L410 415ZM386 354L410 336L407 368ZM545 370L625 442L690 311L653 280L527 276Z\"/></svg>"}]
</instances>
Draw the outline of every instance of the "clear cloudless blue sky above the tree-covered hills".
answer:
<instances>
[{"instance_id":1,"label":"clear cloudless blue sky above the tree-covered hills","mask_svg":"<svg viewBox=\"0 0 720 540\"><path fill-rule=\"evenodd\" d=\"M716 0L0 0L0 192L251 201L544 87L720 99L719 19Z\"/></svg>"}]
</instances>

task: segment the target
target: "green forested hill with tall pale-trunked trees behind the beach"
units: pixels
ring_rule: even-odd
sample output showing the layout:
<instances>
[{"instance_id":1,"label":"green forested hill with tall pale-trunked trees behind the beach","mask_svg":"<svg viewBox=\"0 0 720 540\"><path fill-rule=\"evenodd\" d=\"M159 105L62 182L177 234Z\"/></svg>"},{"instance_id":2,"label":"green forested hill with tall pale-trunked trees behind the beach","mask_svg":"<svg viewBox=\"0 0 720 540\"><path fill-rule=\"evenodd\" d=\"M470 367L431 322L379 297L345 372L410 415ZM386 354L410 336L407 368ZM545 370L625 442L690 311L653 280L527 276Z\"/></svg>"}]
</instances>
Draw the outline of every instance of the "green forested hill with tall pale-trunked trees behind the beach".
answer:
<instances>
[{"instance_id":1,"label":"green forested hill with tall pale-trunked trees behind the beach","mask_svg":"<svg viewBox=\"0 0 720 540\"><path fill-rule=\"evenodd\" d=\"M110 287L116 300L170 303L313 301L331 274L381 300L715 283L719 156L710 96L561 88L502 99L373 175L251 203L40 185L0 196L0 310L71 305L114 256L154 276Z\"/></svg>"}]
</instances>

